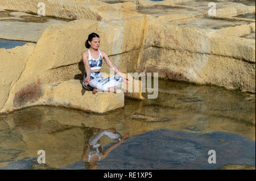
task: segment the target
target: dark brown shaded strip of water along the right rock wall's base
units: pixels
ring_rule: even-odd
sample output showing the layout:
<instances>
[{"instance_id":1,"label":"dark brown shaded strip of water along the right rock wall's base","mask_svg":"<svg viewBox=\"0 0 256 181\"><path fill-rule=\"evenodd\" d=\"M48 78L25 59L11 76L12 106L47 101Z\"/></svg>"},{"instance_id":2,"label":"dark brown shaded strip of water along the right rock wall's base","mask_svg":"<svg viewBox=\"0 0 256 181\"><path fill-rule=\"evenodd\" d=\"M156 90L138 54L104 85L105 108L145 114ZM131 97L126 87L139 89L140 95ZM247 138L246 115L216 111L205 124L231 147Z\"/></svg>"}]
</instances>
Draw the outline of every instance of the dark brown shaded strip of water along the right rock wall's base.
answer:
<instances>
[{"instance_id":1,"label":"dark brown shaded strip of water along the right rock wall's base","mask_svg":"<svg viewBox=\"0 0 256 181\"><path fill-rule=\"evenodd\" d=\"M169 115L172 110L180 110L180 113L196 111L195 113L204 113L205 117L225 117L243 121L243 123L255 124L255 114L253 113L255 112L255 94L215 86L195 86L162 79L159 79L158 82L158 98L146 99L142 102L144 109L141 113L145 116L154 116L151 107L158 107L158 110L160 110L158 112L168 118L170 118ZM143 96L147 97L145 94ZM144 114L144 112L147 112L147 114Z\"/></svg>"}]
</instances>

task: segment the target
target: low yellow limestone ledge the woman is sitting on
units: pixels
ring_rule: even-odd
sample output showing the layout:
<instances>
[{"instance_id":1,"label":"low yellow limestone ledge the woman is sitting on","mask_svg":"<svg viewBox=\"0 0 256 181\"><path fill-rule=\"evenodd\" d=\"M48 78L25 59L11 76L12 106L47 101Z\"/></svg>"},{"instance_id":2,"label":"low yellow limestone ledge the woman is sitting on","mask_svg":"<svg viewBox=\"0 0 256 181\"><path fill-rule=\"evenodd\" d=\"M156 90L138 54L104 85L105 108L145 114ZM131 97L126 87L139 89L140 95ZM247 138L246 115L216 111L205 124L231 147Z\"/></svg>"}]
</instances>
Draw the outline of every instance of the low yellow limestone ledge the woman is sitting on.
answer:
<instances>
[{"instance_id":1,"label":"low yellow limestone ledge the woman is sitting on","mask_svg":"<svg viewBox=\"0 0 256 181\"><path fill-rule=\"evenodd\" d=\"M39 101L43 104L65 106L87 112L105 113L125 106L123 92L117 93L85 91L79 80L61 82L46 86L45 95Z\"/></svg>"}]
</instances>

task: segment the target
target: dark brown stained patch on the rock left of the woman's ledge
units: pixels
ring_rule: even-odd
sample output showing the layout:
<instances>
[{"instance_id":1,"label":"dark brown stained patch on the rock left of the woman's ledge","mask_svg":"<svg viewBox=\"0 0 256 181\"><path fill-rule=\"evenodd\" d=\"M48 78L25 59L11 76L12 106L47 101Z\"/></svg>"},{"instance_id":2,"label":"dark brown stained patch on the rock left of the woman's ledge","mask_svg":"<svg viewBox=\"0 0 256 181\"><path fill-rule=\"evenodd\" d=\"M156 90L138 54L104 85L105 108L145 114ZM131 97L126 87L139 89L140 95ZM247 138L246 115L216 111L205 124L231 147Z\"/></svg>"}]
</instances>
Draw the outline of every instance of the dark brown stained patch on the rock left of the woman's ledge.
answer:
<instances>
[{"instance_id":1,"label":"dark brown stained patch on the rock left of the woman's ledge","mask_svg":"<svg viewBox=\"0 0 256 181\"><path fill-rule=\"evenodd\" d=\"M31 83L15 93L13 104L15 107L22 106L29 102L35 102L41 96L43 96L41 79L37 79L35 83Z\"/></svg>"}]
</instances>

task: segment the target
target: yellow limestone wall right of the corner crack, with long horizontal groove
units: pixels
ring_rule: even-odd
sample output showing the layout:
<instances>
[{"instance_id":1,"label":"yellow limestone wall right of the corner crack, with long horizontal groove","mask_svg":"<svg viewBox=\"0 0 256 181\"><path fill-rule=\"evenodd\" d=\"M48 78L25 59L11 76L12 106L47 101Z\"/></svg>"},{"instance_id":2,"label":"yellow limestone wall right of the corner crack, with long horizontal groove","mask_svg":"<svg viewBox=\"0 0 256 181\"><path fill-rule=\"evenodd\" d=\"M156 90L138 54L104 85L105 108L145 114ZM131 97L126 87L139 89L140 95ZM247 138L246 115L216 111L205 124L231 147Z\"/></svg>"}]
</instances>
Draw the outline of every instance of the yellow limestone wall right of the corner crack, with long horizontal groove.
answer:
<instances>
[{"instance_id":1,"label":"yellow limestone wall right of the corner crack, with long horizontal groove","mask_svg":"<svg viewBox=\"0 0 256 181\"><path fill-rule=\"evenodd\" d=\"M222 36L210 29L147 22L139 71L255 92L255 40Z\"/></svg>"}]
</instances>

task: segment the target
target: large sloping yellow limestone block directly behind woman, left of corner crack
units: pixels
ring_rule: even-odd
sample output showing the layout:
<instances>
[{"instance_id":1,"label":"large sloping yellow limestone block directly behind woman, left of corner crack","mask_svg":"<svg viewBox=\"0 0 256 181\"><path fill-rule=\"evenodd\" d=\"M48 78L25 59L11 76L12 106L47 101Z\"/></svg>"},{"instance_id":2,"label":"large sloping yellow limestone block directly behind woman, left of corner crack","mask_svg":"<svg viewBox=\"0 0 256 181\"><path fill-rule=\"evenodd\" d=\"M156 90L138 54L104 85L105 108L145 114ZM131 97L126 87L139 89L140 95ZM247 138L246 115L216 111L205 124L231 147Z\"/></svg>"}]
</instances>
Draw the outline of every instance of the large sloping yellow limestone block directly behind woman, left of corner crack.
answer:
<instances>
[{"instance_id":1,"label":"large sloping yellow limestone block directly behind woman, left of corner crack","mask_svg":"<svg viewBox=\"0 0 256 181\"><path fill-rule=\"evenodd\" d=\"M42 87L53 82L68 81L74 79L76 74L84 73L83 65L80 67L81 53L84 51L84 42L87 36L95 31L95 28L103 42L101 49L104 49L110 56L122 52L136 53L142 43L143 20L143 16L129 21L117 20L104 24L97 24L96 21L77 20L65 25L55 24L46 28L36 44L34 53L29 58L22 76L12 87L7 104L9 106L13 104L15 94L18 94L19 91L28 91L34 89L32 87ZM113 31L113 27L115 31ZM75 32L73 31L74 28L76 29ZM121 37L122 39L120 39ZM52 43L49 44L49 41ZM123 56L123 58L125 58L127 65L131 65L129 61L134 61L127 61L127 56ZM117 60L117 62L122 61ZM131 69L135 68L136 66L131 66ZM131 69L125 69L125 71L134 71ZM123 71L122 67L121 71ZM39 79L40 81L38 81ZM27 88L23 89L22 87ZM40 97L40 92L42 92L40 89L38 91L39 93L33 93L35 99Z\"/></svg>"}]
</instances>

